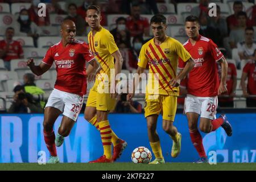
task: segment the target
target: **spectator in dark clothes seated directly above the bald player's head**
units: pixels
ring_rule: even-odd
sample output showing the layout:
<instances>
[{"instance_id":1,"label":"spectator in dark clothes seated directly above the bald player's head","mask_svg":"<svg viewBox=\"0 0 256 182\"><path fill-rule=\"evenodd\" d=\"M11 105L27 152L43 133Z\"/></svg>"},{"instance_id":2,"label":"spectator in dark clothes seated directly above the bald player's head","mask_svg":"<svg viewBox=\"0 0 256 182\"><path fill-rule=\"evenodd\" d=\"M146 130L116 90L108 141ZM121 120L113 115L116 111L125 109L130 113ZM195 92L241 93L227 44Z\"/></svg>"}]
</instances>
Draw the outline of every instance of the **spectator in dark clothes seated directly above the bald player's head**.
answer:
<instances>
[{"instance_id":1,"label":"spectator in dark clothes seated directly above the bald player's head","mask_svg":"<svg viewBox=\"0 0 256 182\"><path fill-rule=\"evenodd\" d=\"M77 14L77 6L75 3L68 5L68 16L65 19L70 19L76 24L76 35L83 36L86 35L86 22L79 14ZM64 19L64 20L65 20Z\"/></svg>"}]
</instances>

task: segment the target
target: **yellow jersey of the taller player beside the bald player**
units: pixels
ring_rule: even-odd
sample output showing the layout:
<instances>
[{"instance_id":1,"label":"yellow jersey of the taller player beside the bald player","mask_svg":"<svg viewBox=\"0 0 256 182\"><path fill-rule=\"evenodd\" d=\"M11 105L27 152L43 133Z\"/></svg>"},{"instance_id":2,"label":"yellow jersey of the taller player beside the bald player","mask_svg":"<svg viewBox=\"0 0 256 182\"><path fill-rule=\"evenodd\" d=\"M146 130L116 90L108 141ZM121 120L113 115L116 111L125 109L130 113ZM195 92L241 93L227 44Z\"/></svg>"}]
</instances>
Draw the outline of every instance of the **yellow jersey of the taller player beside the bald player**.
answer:
<instances>
[{"instance_id":1,"label":"yellow jersey of the taller player beside the bald player","mask_svg":"<svg viewBox=\"0 0 256 182\"><path fill-rule=\"evenodd\" d=\"M101 65L100 73L110 76L110 69L114 69L114 57L112 53L118 50L114 37L106 28L101 27L100 31L93 36L92 31L88 34L89 49Z\"/></svg>"}]
</instances>

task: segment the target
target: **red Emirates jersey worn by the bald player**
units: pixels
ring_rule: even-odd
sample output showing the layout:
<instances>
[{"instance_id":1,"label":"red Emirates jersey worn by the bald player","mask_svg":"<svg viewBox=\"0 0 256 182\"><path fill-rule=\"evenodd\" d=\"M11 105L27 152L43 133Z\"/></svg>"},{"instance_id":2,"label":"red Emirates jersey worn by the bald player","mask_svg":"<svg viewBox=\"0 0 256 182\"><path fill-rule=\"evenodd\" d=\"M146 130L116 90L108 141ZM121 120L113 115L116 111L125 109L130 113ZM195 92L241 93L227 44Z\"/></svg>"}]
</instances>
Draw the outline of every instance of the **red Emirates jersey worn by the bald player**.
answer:
<instances>
[{"instance_id":1,"label":"red Emirates jersey worn by the bald player","mask_svg":"<svg viewBox=\"0 0 256 182\"><path fill-rule=\"evenodd\" d=\"M55 62L57 71L55 89L83 96L86 94L87 86L86 61L89 62L93 58L85 42L74 40L64 47L60 41L48 49L42 62L48 65Z\"/></svg>"}]
</instances>

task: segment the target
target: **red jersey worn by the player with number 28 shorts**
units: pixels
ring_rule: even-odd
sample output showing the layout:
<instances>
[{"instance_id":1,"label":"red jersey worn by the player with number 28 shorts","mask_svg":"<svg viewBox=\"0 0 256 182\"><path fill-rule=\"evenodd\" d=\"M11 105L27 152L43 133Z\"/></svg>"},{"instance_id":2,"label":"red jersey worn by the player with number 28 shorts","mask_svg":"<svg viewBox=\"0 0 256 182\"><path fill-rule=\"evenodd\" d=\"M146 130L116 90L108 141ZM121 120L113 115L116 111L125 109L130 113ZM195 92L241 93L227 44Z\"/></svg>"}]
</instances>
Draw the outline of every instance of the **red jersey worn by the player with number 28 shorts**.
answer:
<instances>
[{"instance_id":1,"label":"red jersey worn by the player with number 28 shorts","mask_svg":"<svg viewBox=\"0 0 256 182\"><path fill-rule=\"evenodd\" d=\"M223 55L216 44L208 38L199 35L196 44L190 40L183 44L195 61L195 67L188 74L188 94L197 97L214 97L218 95L218 72L216 61ZM179 58L179 68L185 67L185 62Z\"/></svg>"}]
</instances>

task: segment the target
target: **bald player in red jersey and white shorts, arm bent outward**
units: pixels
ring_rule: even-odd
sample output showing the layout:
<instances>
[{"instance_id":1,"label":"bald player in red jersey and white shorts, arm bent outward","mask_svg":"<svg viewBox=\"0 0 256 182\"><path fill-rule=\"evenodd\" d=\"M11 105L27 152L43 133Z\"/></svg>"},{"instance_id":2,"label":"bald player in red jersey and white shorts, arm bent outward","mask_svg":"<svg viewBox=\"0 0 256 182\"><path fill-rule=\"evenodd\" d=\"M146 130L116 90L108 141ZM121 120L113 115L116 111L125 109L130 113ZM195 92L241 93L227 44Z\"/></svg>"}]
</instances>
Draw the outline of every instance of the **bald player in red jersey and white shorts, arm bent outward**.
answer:
<instances>
[{"instance_id":1,"label":"bald player in red jersey and white shorts, arm bent outward","mask_svg":"<svg viewBox=\"0 0 256 182\"><path fill-rule=\"evenodd\" d=\"M63 144L80 113L86 94L86 75L92 76L101 68L88 45L75 39L76 26L72 20L64 20L60 32L61 41L48 49L39 65L35 65L33 59L27 61L38 76L47 72L53 62L56 65L57 79L44 109L44 141L51 154L48 163L59 163L56 146ZM87 73L86 62L89 63ZM63 119L55 139L53 124L61 113Z\"/></svg>"}]
</instances>

